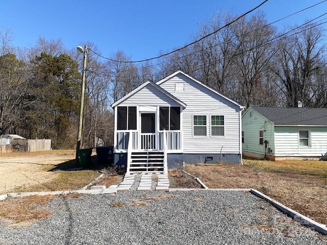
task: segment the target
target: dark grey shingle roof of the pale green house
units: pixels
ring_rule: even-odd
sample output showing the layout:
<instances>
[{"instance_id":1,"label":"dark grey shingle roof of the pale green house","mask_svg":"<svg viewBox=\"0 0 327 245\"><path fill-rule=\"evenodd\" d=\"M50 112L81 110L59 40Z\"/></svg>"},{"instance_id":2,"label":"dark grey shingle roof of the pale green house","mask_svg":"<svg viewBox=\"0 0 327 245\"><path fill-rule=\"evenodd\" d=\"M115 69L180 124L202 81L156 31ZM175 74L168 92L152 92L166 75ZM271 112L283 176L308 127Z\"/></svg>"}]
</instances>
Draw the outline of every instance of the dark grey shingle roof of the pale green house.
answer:
<instances>
[{"instance_id":1,"label":"dark grey shingle roof of the pale green house","mask_svg":"<svg viewBox=\"0 0 327 245\"><path fill-rule=\"evenodd\" d=\"M275 125L327 126L327 108L252 106Z\"/></svg>"}]
</instances>

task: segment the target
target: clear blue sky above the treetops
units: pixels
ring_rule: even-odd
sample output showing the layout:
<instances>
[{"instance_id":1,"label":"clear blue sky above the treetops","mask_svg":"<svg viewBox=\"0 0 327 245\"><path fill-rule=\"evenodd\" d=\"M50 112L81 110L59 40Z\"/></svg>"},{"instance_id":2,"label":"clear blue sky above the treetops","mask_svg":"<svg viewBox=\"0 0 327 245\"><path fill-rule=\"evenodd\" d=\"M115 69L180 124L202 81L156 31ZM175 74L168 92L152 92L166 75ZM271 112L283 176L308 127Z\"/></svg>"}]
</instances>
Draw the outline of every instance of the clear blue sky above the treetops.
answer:
<instances>
[{"instance_id":1,"label":"clear blue sky above the treetops","mask_svg":"<svg viewBox=\"0 0 327 245\"><path fill-rule=\"evenodd\" d=\"M201 23L217 12L243 14L264 0L0 0L0 29L9 29L16 47L39 37L61 39L75 48L90 41L110 57L122 50L132 60L155 57L191 41ZM260 10L268 22L322 0L269 0ZM258 11L258 10L257 10ZM327 12L327 2L276 23L301 24Z\"/></svg>"}]
</instances>

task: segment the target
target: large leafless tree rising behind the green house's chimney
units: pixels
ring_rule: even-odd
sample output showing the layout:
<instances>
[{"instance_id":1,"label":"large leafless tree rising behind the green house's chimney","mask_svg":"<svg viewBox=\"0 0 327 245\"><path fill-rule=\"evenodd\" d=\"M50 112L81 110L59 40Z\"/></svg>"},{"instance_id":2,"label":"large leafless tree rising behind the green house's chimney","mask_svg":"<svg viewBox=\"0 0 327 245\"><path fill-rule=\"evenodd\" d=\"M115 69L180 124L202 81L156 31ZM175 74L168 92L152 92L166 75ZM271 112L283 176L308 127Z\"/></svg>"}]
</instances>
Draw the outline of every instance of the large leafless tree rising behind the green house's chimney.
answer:
<instances>
[{"instance_id":1,"label":"large leafless tree rising behind the green house's chimney","mask_svg":"<svg viewBox=\"0 0 327 245\"><path fill-rule=\"evenodd\" d=\"M286 106L294 107L297 101L308 107L324 104L314 99L323 80L319 73L325 72L326 66L322 62L325 49L322 38L321 27L310 23L294 28L293 33L279 40L278 65L274 71L285 94Z\"/></svg>"}]
</instances>

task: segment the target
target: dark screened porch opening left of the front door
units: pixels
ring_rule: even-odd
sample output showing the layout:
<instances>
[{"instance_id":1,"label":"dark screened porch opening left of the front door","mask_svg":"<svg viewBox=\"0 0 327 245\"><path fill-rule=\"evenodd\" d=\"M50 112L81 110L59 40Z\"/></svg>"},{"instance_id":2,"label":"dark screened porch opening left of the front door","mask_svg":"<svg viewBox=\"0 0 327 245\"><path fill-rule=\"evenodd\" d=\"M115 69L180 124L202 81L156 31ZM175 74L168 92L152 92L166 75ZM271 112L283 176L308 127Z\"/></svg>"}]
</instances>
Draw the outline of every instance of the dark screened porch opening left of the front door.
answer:
<instances>
[{"instance_id":1,"label":"dark screened porch opening left of the front door","mask_svg":"<svg viewBox=\"0 0 327 245\"><path fill-rule=\"evenodd\" d=\"M119 106L117 108L117 130L136 129L136 106Z\"/></svg>"}]
</instances>

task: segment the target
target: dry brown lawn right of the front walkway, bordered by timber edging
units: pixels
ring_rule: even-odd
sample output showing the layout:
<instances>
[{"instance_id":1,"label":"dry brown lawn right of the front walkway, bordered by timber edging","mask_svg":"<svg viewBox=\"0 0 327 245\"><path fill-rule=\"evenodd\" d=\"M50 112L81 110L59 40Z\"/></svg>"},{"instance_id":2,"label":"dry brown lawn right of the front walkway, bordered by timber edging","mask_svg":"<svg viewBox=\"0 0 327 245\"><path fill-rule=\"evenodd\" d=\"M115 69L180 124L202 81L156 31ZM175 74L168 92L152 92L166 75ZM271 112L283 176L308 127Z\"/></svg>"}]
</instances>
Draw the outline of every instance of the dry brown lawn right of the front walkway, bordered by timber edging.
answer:
<instances>
[{"instance_id":1,"label":"dry brown lawn right of the front walkway, bordered by timber edging","mask_svg":"<svg viewBox=\"0 0 327 245\"><path fill-rule=\"evenodd\" d=\"M327 224L327 162L244 160L244 165L187 165L185 170L209 188L257 189Z\"/></svg>"}]
</instances>

